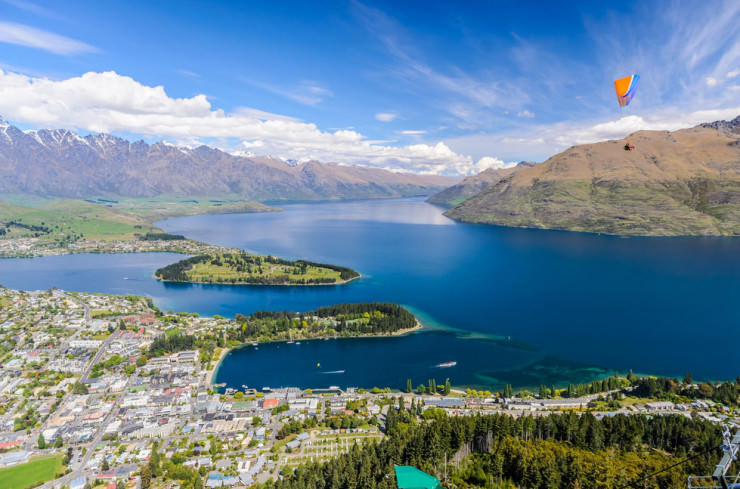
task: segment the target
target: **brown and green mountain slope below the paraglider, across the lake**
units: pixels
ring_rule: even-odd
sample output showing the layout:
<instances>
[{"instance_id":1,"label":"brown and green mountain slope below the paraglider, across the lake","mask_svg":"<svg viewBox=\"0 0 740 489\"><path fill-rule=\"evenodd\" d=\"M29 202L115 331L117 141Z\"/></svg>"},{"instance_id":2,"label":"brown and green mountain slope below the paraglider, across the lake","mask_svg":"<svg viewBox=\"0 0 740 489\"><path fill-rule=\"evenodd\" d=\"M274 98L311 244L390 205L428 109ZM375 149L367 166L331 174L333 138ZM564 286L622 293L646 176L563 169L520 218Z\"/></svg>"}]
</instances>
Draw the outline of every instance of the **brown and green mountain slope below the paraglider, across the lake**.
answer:
<instances>
[{"instance_id":1,"label":"brown and green mountain slope below the paraglider, across the lake","mask_svg":"<svg viewBox=\"0 0 740 489\"><path fill-rule=\"evenodd\" d=\"M572 147L447 215L609 234L740 235L740 117Z\"/></svg>"}]
</instances>

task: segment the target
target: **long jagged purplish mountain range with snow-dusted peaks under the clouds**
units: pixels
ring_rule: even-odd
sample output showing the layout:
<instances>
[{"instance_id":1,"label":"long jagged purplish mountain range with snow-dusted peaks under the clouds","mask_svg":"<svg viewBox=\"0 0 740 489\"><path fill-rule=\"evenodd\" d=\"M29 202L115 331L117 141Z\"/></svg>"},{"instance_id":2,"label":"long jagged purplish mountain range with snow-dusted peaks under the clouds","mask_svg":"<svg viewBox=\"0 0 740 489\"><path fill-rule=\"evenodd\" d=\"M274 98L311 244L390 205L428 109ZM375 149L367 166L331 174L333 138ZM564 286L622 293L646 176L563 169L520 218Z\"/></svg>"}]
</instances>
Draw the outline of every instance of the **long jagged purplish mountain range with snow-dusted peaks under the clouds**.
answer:
<instances>
[{"instance_id":1,"label":"long jagged purplish mountain range with snow-dusted peaks under the clouds","mask_svg":"<svg viewBox=\"0 0 740 489\"><path fill-rule=\"evenodd\" d=\"M326 200L425 195L454 179L322 164L291 166L208 146L129 142L65 129L21 131L0 119L0 193L65 198L238 196Z\"/></svg>"}]
</instances>

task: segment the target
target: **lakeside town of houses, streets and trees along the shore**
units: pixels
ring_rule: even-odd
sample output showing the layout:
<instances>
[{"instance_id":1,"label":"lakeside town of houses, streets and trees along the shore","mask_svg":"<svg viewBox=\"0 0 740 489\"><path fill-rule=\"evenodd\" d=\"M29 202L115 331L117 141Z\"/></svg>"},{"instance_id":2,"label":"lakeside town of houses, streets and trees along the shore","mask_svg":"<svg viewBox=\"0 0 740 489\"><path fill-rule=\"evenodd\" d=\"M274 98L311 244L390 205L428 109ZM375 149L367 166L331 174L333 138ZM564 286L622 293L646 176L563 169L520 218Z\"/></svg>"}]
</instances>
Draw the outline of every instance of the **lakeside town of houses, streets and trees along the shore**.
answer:
<instances>
[{"instance_id":1,"label":"lakeside town of houses, streets and trees along the shore","mask_svg":"<svg viewBox=\"0 0 740 489\"><path fill-rule=\"evenodd\" d=\"M149 489L173 480L248 487L381 440L400 411L414 420L574 412L738 422L734 406L639 398L622 384L578 397L514 396L508 386L503 394L237 389L213 383L227 345L156 348L163 338L220 337L238 327L218 316L164 313L138 296L0 288L0 478L44 489Z\"/></svg>"}]
</instances>

